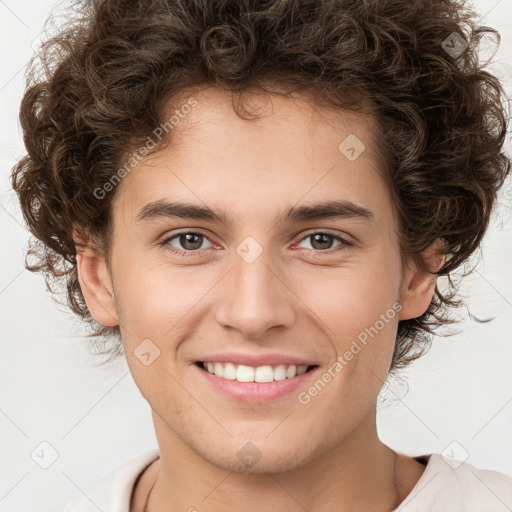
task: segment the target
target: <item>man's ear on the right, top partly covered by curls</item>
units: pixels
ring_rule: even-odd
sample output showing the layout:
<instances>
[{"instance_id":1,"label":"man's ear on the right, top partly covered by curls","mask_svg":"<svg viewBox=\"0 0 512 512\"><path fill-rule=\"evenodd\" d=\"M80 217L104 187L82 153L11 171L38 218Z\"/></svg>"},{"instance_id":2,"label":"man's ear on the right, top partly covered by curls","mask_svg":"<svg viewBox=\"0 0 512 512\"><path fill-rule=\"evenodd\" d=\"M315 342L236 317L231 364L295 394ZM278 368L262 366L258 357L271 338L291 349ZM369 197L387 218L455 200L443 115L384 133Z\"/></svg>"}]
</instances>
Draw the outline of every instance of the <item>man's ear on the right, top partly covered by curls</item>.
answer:
<instances>
[{"instance_id":1,"label":"man's ear on the right, top partly covered by curls","mask_svg":"<svg viewBox=\"0 0 512 512\"><path fill-rule=\"evenodd\" d=\"M438 238L432 245L421 253L422 259L428 269L437 271L444 263L445 255L442 252L444 241ZM400 303L402 309L399 320L408 320L421 316L428 309L437 283L437 275L419 268L412 260L405 269L402 283Z\"/></svg>"}]
</instances>

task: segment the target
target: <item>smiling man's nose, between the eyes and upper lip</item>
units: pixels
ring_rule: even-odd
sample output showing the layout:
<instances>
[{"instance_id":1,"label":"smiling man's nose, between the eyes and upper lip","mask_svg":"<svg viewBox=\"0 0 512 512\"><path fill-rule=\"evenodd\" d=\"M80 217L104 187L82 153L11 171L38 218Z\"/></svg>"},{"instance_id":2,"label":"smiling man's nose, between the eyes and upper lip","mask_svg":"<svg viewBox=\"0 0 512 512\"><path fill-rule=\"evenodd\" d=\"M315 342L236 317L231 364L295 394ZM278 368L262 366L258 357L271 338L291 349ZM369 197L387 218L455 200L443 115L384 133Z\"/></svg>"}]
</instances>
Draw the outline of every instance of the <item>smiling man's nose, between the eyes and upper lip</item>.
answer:
<instances>
[{"instance_id":1,"label":"smiling man's nose, between the eyes and upper lip","mask_svg":"<svg viewBox=\"0 0 512 512\"><path fill-rule=\"evenodd\" d=\"M290 327L295 321L297 300L290 283L265 251L250 263L235 253L234 267L223 281L224 298L216 311L223 327L258 339L272 327Z\"/></svg>"}]
</instances>

